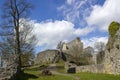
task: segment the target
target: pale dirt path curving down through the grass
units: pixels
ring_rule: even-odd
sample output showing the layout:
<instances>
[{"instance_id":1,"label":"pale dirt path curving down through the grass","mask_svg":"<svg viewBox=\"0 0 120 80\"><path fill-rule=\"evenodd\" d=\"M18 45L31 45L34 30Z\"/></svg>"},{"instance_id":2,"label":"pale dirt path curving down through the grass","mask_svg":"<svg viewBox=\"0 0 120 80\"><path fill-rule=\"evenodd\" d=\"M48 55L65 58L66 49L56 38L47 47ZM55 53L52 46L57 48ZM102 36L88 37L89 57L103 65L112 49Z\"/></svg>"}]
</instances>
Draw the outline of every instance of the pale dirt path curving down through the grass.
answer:
<instances>
[{"instance_id":1,"label":"pale dirt path curving down through the grass","mask_svg":"<svg viewBox=\"0 0 120 80\"><path fill-rule=\"evenodd\" d=\"M74 77L75 80L80 80L80 77L77 77L77 76L75 76L75 75L58 72L58 71L57 71L56 64L50 64L50 65L47 67L47 69L49 69L49 70L52 72L52 74L62 75L62 76L68 76L68 77L69 77L69 76L70 76L70 77L72 76L72 77Z\"/></svg>"}]
</instances>

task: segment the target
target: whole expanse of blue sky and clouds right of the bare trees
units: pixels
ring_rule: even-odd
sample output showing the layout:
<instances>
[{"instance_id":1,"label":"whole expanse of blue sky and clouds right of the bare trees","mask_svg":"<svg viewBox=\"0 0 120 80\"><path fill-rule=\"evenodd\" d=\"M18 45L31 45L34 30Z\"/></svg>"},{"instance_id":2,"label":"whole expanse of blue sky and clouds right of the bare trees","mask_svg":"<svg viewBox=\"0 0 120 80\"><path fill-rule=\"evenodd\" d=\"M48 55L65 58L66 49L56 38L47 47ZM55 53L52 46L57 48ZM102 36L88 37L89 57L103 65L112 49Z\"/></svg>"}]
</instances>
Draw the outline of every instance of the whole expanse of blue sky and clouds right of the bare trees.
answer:
<instances>
[{"instance_id":1,"label":"whole expanse of blue sky and clouds right of the bare trees","mask_svg":"<svg viewBox=\"0 0 120 80\"><path fill-rule=\"evenodd\" d=\"M36 52L55 49L59 41L69 42L76 37L81 38L84 47L107 43L109 24L120 22L120 0L29 1L34 5L29 19L38 39Z\"/></svg>"}]
</instances>

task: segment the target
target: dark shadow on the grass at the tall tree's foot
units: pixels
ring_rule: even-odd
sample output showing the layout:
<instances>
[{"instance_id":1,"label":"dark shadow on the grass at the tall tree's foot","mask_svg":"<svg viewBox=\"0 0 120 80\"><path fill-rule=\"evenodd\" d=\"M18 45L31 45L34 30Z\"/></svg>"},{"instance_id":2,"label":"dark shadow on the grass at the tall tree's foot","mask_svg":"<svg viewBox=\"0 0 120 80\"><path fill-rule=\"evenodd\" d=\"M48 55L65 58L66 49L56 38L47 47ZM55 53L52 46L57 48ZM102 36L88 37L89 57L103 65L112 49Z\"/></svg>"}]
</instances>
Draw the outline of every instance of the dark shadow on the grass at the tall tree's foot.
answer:
<instances>
[{"instance_id":1,"label":"dark shadow on the grass at the tall tree's foot","mask_svg":"<svg viewBox=\"0 0 120 80\"><path fill-rule=\"evenodd\" d=\"M28 74L28 73L21 73L18 75L17 80L29 80L29 79L37 79L38 77L33 75L33 74Z\"/></svg>"}]
</instances>

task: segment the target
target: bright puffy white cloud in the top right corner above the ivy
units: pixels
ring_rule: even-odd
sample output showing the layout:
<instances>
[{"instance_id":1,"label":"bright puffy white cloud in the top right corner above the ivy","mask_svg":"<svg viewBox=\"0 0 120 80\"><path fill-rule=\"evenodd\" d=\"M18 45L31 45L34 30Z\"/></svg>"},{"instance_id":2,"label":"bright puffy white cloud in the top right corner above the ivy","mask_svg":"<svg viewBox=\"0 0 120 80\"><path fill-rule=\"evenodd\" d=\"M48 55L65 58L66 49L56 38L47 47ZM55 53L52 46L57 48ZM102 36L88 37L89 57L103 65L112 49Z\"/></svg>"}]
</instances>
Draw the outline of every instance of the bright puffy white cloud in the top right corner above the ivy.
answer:
<instances>
[{"instance_id":1,"label":"bright puffy white cloud in the top right corner above the ivy","mask_svg":"<svg viewBox=\"0 0 120 80\"><path fill-rule=\"evenodd\" d=\"M120 0L106 0L103 6L95 5L89 17L86 18L89 26L98 26L107 31L112 21L120 22Z\"/></svg>"}]
</instances>

